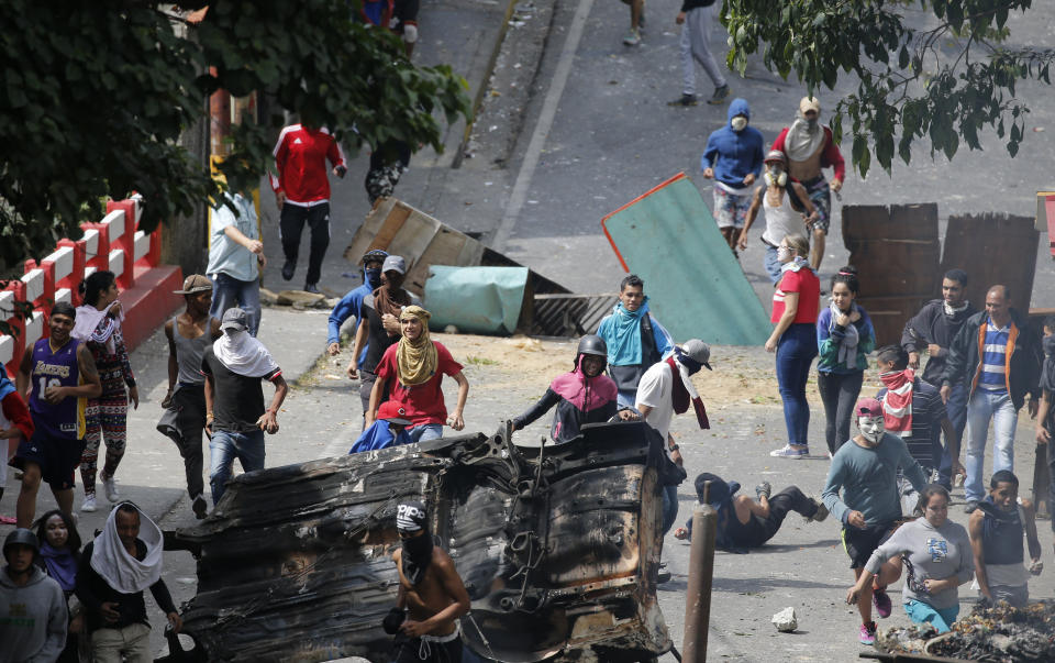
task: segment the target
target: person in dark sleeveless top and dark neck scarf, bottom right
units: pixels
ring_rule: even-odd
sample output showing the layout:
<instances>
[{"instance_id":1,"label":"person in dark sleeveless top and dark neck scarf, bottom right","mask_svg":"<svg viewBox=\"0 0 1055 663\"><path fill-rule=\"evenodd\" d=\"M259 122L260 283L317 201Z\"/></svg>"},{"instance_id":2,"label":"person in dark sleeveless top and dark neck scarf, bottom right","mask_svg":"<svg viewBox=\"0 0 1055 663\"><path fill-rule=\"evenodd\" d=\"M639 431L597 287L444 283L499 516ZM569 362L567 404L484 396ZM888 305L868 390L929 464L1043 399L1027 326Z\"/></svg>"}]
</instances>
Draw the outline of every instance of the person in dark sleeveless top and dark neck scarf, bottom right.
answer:
<instances>
[{"instance_id":1,"label":"person in dark sleeveless top and dark neck scarf, bottom right","mask_svg":"<svg viewBox=\"0 0 1055 663\"><path fill-rule=\"evenodd\" d=\"M1030 574L1040 575L1041 542L1036 537L1033 502L1019 499L1019 477L1010 469L995 472L989 495L981 499L967 521L975 557L973 589L990 604L1006 600L1015 608L1030 601ZM1022 537L1030 546L1025 567Z\"/></svg>"}]
</instances>

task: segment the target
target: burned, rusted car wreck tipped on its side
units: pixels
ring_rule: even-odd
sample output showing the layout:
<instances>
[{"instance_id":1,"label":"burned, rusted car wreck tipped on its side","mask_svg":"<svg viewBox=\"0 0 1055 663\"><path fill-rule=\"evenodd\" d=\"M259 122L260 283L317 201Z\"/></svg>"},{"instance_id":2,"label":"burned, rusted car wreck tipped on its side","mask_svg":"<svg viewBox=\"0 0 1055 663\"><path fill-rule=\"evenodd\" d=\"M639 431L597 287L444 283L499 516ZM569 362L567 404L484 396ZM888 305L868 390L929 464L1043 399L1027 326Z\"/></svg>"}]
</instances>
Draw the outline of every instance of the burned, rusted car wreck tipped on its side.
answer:
<instances>
[{"instance_id":1,"label":"burned, rusted car wreck tipped on its side","mask_svg":"<svg viewBox=\"0 0 1055 663\"><path fill-rule=\"evenodd\" d=\"M242 475L208 519L166 532L166 549L198 559L182 610L192 658L391 660L396 506L421 499L465 582L462 637L480 658L652 661L671 647L659 486L680 472L662 442L617 422L520 446L507 424Z\"/></svg>"}]
</instances>

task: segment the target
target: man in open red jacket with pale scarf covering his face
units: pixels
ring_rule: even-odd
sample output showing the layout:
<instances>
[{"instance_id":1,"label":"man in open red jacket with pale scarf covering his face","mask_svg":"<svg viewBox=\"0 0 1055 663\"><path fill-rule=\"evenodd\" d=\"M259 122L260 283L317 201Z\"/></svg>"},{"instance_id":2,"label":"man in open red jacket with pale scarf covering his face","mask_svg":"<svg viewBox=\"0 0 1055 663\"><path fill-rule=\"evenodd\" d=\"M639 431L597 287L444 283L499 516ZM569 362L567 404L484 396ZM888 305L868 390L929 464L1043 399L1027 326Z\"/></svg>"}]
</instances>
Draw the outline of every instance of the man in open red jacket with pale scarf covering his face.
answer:
<instances>
[{"instance_id":1,"label":"man in open red jacket with pale scarf covering his face","mask_svg":"<svg viewBox=\"0 0 1055 663\"><path fill-rule=\"evenodd\" d=\"M813 241L810 243L810 267L820 269L824 257L824 237L831 223L832 191L843 188L846 177L846 163L832 140L832 130L820 123L821 102L815 97L803 97L799 101L799 112L791 126L785 126L770 150L779 150L788 155L788 175L806 187L810 200L817 208L813 222ZM835 170L831 186L823 168Z\"/></svg>"}]
</instances>

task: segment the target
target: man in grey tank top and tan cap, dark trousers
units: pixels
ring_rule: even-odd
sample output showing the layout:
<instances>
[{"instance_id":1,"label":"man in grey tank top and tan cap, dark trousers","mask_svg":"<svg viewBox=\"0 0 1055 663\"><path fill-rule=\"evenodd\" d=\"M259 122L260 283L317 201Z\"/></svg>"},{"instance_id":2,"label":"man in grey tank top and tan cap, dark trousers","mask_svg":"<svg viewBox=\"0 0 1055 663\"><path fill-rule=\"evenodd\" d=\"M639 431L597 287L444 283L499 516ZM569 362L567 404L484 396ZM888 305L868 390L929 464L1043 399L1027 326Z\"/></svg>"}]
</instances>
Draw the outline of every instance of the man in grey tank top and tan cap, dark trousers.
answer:
<instances>
[{"instance_id":1,"label":"man in grey tank top and tan cap, dark trousers","mask_svg":"<svg viewBox=\"0 0 1055 663\"><path fill-rule=\"evenodd\" d=\"M212 283L200 274L184 279L182 295L187 309L165 323L168 339L168 391L162 400L165 416L157 430L176 443L184 458L190 506L199 519L209 508L201 478L203 456L201 434L206 430L206 376L201 358L223 332L220 320L209 314L212 307Z\"/></svg>"}]
</instances>

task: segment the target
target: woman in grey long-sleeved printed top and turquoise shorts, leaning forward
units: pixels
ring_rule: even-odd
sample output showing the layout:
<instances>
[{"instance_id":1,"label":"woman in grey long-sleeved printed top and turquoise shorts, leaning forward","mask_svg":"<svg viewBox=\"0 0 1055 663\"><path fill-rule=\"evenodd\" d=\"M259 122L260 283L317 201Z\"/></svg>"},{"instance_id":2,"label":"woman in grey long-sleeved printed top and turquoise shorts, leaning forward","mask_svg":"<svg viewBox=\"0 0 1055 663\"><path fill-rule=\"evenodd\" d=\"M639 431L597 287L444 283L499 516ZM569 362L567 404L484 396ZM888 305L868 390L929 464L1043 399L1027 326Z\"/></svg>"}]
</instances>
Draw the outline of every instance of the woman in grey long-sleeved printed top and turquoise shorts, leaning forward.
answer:
<instances>
[{"instance_id":1,"label":"woman in grey long-sleeved printed top and turquoise shorts, leaning forward","mask_svg":"<svg viewBox=\"0 0 1055 663\"><path fill-rule=\"evenodd\" d=\"M846 592L855 605L865 588L879 577L890 585L908 570L901 598L913 623L930 623L945 633L959 615L958 587L974 576L974 556L967 530L948 519L948 490L931 484L920 494L917 518L899 527L868 557L857 583Z\"/></svg>"}]
</instances>

